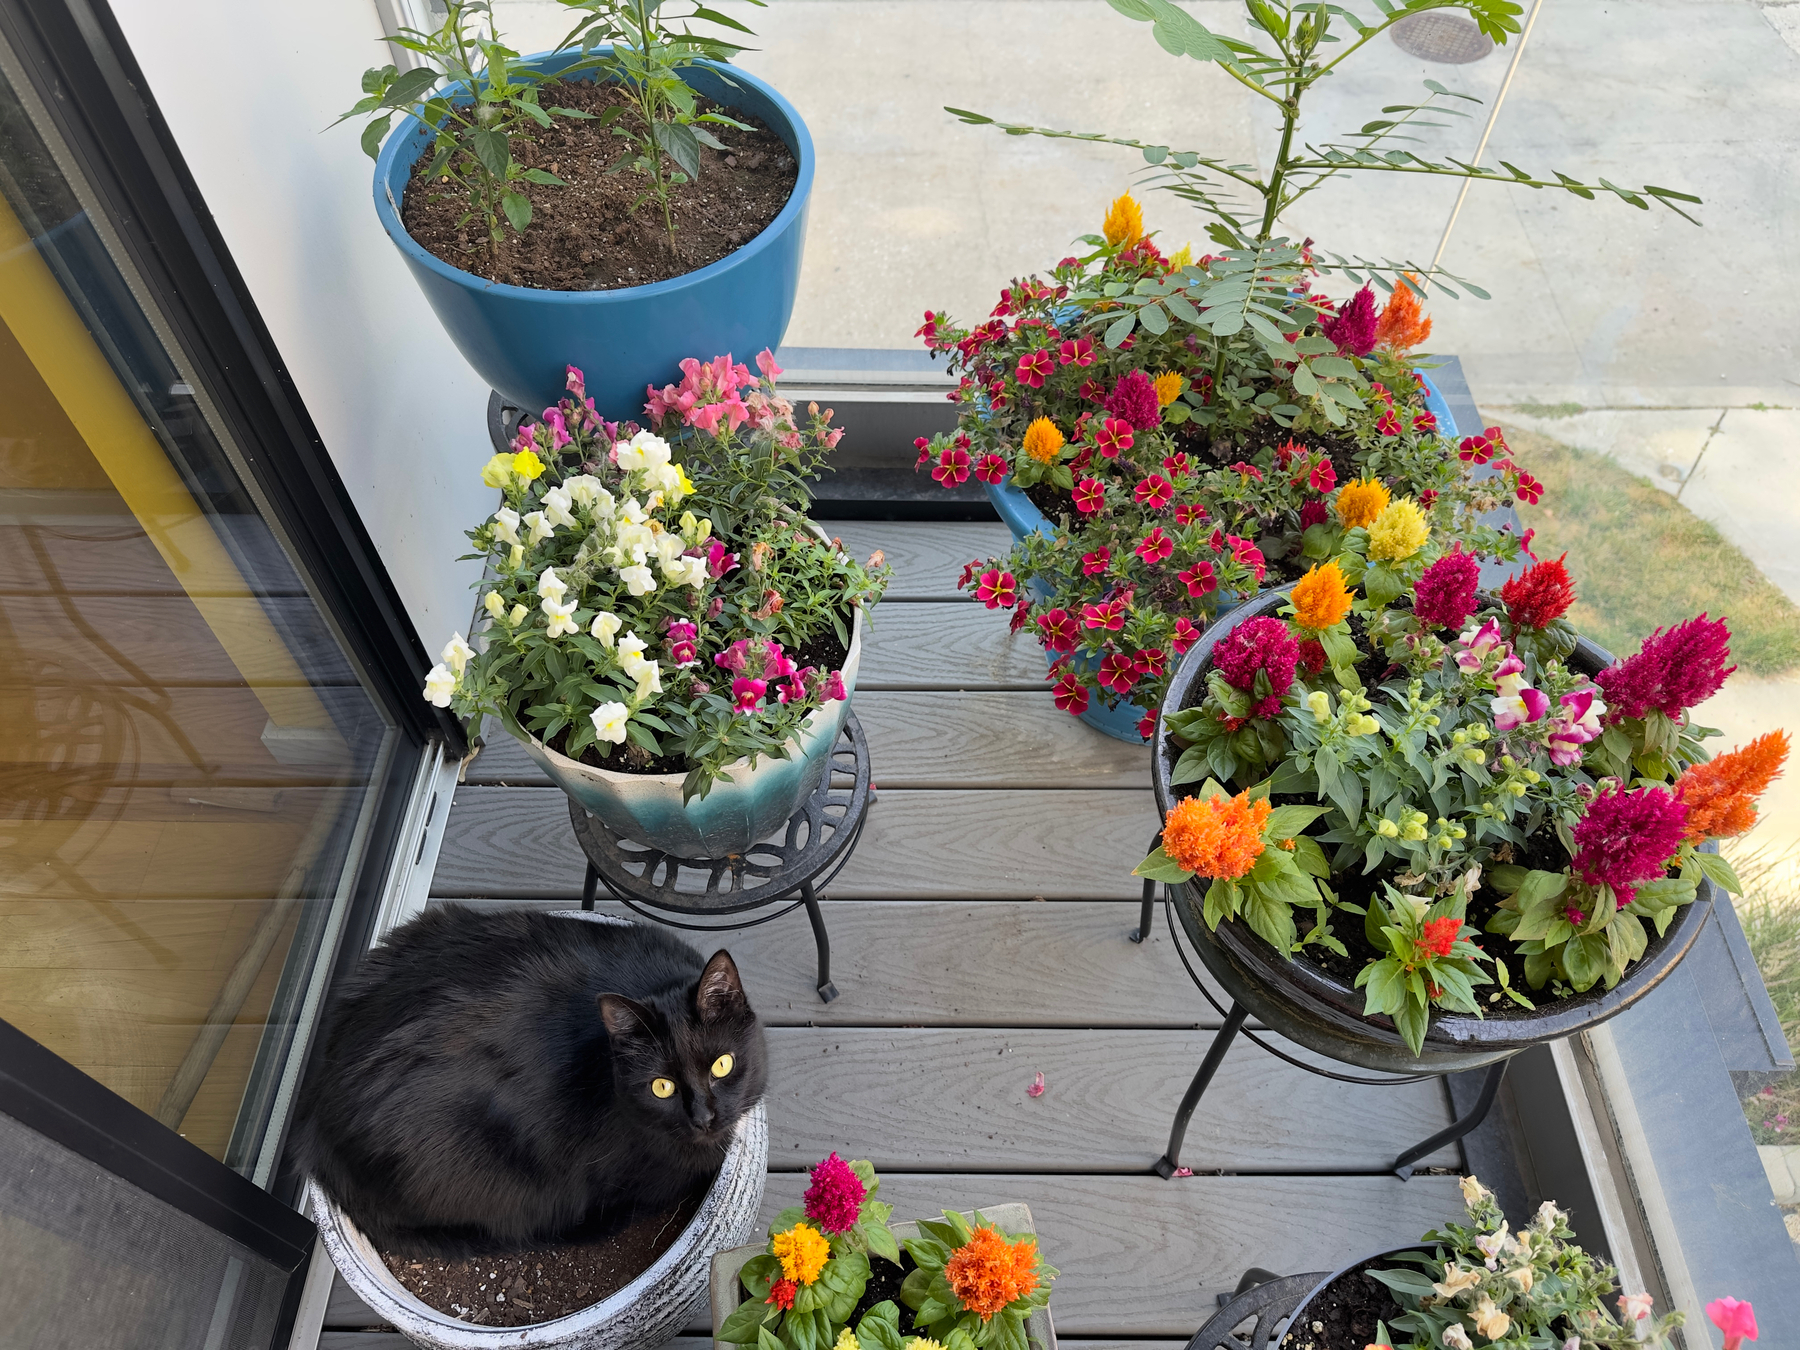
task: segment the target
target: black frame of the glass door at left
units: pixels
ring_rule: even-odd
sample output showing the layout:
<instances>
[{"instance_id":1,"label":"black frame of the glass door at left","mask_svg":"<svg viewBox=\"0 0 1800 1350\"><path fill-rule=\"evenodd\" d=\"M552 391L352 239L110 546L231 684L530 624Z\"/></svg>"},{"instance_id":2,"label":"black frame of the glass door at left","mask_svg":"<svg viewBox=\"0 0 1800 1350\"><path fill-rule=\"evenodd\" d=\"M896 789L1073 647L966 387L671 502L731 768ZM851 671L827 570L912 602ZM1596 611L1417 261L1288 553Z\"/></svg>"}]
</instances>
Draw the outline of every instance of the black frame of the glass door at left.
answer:
<instances>
[{"instance_id":1,"label":"black frame of the glass door at left","mask_svg":"<svg viewBox=\"0 0 1800 1350\"><path fill-rule=\"evenodd\" d=\"M398 731L371 785L380 797L335 950L322 956L329 988L367 950L405 862L396 844L410 797L430 787L432 765L466 752L464 729L418 693L430 657L104 0L0 0L0 40L205 385L245 486ZM0 1111L288 1271L274 1341L286 1346L315 1238L293 1208L297 1177L257 1188L5 1022Z\"/></svg>"}]
</instances>

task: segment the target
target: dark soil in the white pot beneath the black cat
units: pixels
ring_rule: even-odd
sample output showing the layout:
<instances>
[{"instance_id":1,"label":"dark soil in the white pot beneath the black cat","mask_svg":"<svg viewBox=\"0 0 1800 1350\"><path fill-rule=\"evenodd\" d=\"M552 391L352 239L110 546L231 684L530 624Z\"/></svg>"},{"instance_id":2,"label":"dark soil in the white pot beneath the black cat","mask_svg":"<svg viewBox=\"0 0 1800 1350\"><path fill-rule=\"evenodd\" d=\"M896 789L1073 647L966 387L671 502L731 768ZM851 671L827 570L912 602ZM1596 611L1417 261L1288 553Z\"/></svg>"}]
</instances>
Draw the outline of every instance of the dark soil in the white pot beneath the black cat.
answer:
<instances>
[{"instance_id":1,"label":"dark soil in the white pot beneath the black cat","mask_svg":"<svg viewBox=\"0 0 1800 1350\"><path fill-rule=\"evenodd\" d=\"M421 1303L477 1327L529 1327L565 1318L619 1292L650 1269L693 1220L700 1195L668 1213L634 1219L598 1242L517 1256L394 1256L382 1260Z\"/></svg>"}]
</instances>

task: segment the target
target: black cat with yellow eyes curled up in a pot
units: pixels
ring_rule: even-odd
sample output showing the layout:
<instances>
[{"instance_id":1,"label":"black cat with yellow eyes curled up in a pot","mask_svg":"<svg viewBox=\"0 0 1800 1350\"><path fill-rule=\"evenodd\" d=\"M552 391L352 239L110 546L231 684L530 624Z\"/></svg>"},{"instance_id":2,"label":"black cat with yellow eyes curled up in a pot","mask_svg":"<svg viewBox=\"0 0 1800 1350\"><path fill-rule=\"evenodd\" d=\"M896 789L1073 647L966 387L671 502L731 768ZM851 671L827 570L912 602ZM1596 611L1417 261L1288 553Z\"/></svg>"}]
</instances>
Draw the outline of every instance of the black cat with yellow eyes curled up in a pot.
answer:
<instances>
[{"instance_id":1,"label":"black cat with yellow eyes curled up in a pot","mask_svg":"<svg viewBox=\"0 0 1800 1350\"><path fill-rule=\"evenodd\" d=\"M704 1193L763 1096L729 952L662 929L432 907L331 1006L295 1161L376 1247L590 1240Z\"/></svg>"}]
</instances>

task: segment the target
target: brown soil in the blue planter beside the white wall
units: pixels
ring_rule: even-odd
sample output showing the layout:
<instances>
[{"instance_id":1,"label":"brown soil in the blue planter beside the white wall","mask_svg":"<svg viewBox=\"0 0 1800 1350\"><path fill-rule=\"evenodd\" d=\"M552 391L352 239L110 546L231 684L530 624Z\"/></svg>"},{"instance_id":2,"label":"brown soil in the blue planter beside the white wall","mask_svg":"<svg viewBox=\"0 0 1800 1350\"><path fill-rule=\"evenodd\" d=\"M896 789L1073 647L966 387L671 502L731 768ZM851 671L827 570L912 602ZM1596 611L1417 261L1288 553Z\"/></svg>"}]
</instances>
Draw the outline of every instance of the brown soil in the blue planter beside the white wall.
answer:
<instances>
[{"instance_id":1,"label":"brown soil in the blue planter beside the white wall","mask_svg":"<svg viewBox=\"0 0 1800 1350\"><path fill-rule=\"evenodd\" d=\"M488 248L479 221L457 227L468 212L468 196L454 184L418 176L430 166L419 157L407 184L401 220L407 234L443 263L509 286L542 290L614 290L644 286L695 272L727 257L761 234L787 205L799 166L787 144L754 117L697 99L700 112L724 112L749 131L709 122L729 149L700 146L700 176L670 189L677 252L670 252L662 209L655 198L635 211L650 180L632 167L607 173L626 153L625 139L598 119L625 95L590 81L551 81L540 88L545 108L576 108L594 121L556 117L549 128L533 128L513 139L513 157L533 169L547 169L567 187L515 184L531 200L531 225L524 234L502 225L504 239ZM630 124L626 113L621 124ZM671 166L664 158L664 171ZM446 191L445 191L446 189Z\"/></svg>"}]
</instances>

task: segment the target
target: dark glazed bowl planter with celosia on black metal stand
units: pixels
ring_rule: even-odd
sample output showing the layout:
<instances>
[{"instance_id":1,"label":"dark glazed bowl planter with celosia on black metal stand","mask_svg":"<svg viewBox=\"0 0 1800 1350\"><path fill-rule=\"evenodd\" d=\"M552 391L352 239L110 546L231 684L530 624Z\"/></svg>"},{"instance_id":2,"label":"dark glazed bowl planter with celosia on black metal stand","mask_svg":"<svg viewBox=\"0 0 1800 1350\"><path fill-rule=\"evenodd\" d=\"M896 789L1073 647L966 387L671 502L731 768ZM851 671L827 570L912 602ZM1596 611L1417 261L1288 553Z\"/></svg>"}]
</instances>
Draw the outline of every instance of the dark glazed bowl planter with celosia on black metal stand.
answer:
<instances>
[{"instance_id":1,"label":"dark glazed bowl planter with celosia on black metal stand","mask_svg":"<svg viewBox=\"0 0 1800 1350\"><path fill-rule=\"evenodd\" d=\"M1175 754L1168 742L1166 715L1170 709L1197 702L1193 695L1206 688L1211 670L1213 643L1246 619L1274 616L1287 599L1287 590L1273 590L1238 607L1215 623L1195 643L1168 686L1168 702L1156 718L1150 776L1156 787L1156 806L1166 815L1184 792L1170 787ZM1570 664L1595 675L1613 664L1613 657L1588 639L1580 641ZM1305 956L1292 959L1278 954L1269 943L1249 931L1249 925L1228 920L1217 931L1208 931L1201 916L1204 887L1193 882L1170 887L1175 913L1188 941L1201 954L1206 968L1224 985L1226 992L1260 1017L1271 1030L1296 1040L1319 1055L1330 1055L1343 1064L1384 1073L1458 1073L1508 1058L1521 1049L1561 1040L1618 1017L1649 994L1676 963L1687 956L1701 927L1712 913L1717 889L1701 880L1694 902L1676 911L1665 934L1652 936L1643 956L1611 990L1580 994L1543 1006L1534 1013L1507 1017L1467 1017L1463 1013L1433 1012L1424 1049L1415 1057L1390 1017L1364 1017L1363 992L1327 974Z\"/></svg>"}]
</instances>

